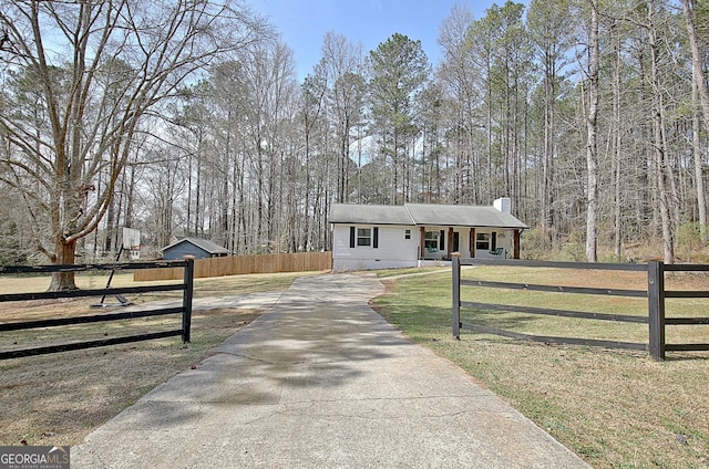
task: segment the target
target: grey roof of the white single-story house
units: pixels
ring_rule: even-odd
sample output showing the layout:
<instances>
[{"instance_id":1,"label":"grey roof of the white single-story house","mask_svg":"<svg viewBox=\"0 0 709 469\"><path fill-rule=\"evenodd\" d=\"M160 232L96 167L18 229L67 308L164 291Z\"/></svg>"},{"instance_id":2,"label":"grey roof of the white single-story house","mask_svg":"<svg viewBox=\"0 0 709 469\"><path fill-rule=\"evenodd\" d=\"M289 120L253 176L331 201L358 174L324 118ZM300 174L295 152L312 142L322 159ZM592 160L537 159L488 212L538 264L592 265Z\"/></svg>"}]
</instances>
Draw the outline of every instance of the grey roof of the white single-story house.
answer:
<instances>
[{"instance_id":1,"label":"grey roof of the white single-story house","mask_svg":"<svg viewBox=\"0 0 709 469\"><path fill-rule=\"evenodd\" d=\"M369 223L404 226L456 226L526 229L512 213L486 206L404 204L367 206L333 204L330 223Z\"/></svg>"}]
</instances>

